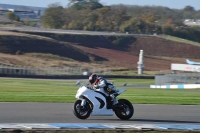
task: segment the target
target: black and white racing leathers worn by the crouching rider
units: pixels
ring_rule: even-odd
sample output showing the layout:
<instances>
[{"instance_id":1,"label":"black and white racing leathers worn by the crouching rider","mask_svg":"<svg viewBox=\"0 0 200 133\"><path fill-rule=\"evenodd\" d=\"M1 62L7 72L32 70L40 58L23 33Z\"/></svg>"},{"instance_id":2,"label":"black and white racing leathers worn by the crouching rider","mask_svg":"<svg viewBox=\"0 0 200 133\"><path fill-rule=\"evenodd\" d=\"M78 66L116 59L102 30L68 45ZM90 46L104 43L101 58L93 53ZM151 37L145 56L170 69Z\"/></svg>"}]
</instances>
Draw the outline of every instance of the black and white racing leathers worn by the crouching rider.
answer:
<instances>
[{"instance_id":1,"label":"black and white racing leathers worn by the crouching rider","mask_svg":"<svg viewBox=\"0 0 200 133\"><path fill-rule=\"evenodd\" d=\"M106 86L110 89L109 91L112 92L111 94L109 94L109 92L106 91L105 89ZM97 79L97 82L95 82L93 88L95 91L100 91L104 93L106 96L110 96L113 101L113 105L118 103L118 101L114 96L116 92L116 87L112 83L108 82L106 79L99 77Z\"/></svg>"}]
</instances>

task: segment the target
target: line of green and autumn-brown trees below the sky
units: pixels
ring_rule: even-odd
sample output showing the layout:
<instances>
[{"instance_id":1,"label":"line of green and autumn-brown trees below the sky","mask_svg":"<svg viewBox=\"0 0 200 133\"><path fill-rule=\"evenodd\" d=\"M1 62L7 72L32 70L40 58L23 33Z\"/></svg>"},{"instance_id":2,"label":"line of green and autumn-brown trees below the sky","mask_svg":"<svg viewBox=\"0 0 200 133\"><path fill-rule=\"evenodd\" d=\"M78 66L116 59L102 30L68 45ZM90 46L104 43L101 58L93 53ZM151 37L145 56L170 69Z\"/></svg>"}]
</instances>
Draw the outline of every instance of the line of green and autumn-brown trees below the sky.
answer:
<instances>
[{"instance_id":1,"label":"line of green and autumn-brown trees below the sky","mask_svg":"<svg viewBox=\"0 0 200 133\"><path fill-rule=\"evenodd\" d=\"M200 19L192 6L170 9L162 6L110 5L99 0L69 0L66 7L53 3L41 17L43 27L70 30L167 34L200 42L200 27L185 19Z\"/></svg>"}]
</instances>

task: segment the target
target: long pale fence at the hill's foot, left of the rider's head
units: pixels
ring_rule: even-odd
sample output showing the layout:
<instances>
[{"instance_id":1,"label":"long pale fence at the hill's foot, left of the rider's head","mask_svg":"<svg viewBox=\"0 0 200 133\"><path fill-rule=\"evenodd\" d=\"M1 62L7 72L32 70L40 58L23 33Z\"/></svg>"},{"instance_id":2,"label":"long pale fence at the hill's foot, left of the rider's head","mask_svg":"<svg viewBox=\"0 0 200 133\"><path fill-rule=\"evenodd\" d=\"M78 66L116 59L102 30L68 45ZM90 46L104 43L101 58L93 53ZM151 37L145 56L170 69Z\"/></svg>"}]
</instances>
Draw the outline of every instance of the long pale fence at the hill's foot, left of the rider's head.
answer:
<instances>
[{"instance_id":1,"label":"long pale fence at the hill's foot, left of the rider's head","mask_svg":"<svg viewBox=\"0 0 200 133\"><path fill-rule=\"evenodd\" d=\"M69 67L30 67L0 65L0 74L17 74L17 75L88 75L97 73L109 75L111 70L108 68L82 68L77 66Z\"/></svg>"}]
</instances>

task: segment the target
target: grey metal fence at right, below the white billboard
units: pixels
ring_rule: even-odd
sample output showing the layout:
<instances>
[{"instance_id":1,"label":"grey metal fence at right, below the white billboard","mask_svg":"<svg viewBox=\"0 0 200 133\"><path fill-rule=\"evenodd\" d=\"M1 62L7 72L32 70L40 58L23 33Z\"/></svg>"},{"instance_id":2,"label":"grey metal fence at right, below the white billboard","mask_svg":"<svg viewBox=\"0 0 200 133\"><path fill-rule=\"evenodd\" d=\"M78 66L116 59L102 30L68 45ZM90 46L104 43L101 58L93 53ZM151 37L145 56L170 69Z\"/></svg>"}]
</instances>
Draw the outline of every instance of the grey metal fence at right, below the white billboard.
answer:
<instances>
[{"instance_id":1,"label":"grey metal fence at right, below the white billboard","mask_svg":"<svg viewBox=\"0 0 200 133\"><path fill-rule=\"evenodd\" d=\"M173 85L173 84L200 84L200 73L171 73L156 74L155 85Z\"/></svg>"}]
</instances>

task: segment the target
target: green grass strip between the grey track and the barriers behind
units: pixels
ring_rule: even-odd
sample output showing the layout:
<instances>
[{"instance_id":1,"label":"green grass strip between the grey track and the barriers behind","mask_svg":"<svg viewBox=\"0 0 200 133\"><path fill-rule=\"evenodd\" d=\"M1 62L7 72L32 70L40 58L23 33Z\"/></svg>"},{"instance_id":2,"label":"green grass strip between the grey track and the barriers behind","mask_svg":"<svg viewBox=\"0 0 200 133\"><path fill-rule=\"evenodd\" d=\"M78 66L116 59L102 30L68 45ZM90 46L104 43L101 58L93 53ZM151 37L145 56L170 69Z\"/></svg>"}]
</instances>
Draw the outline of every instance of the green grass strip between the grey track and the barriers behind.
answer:
<instances>
[{"instance_id":1,"label":"green grass strip between the grey track and the barriers behind","mask_svg":"<svg viewBox=\"0 0 200 133\"><path fill-rule=\"evenodd\" d=\"M133 85L154 84L152 79L109 79L118 88L127 88L119 98L133 104L200 105L200 90L150 89ZM74 102L76 81L0 78L0 102ZM128 86L121 86L127 83Z\"/></svg>"}]
</instances>

